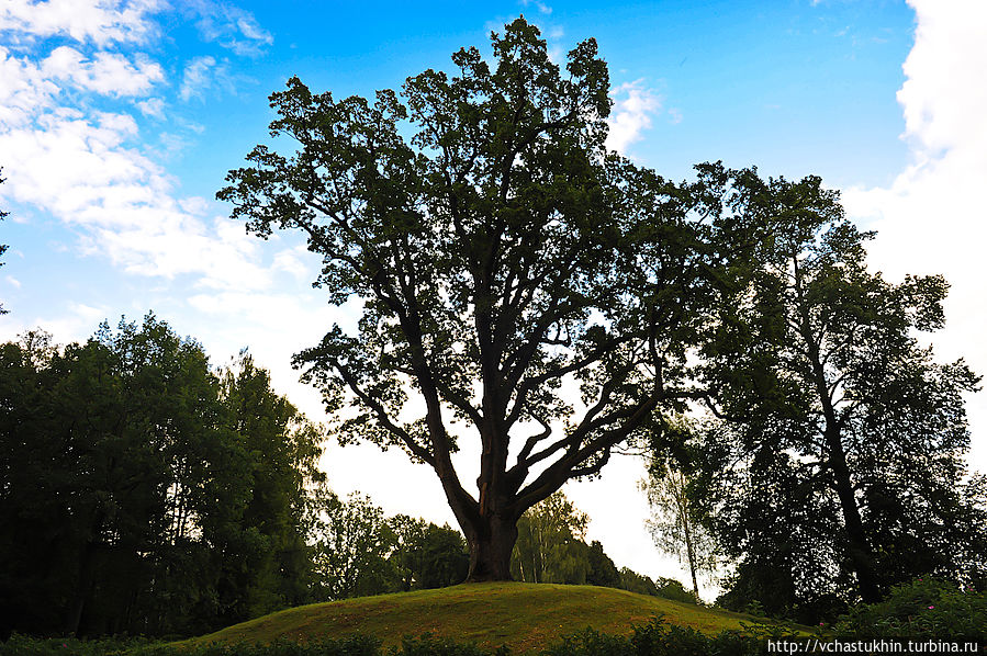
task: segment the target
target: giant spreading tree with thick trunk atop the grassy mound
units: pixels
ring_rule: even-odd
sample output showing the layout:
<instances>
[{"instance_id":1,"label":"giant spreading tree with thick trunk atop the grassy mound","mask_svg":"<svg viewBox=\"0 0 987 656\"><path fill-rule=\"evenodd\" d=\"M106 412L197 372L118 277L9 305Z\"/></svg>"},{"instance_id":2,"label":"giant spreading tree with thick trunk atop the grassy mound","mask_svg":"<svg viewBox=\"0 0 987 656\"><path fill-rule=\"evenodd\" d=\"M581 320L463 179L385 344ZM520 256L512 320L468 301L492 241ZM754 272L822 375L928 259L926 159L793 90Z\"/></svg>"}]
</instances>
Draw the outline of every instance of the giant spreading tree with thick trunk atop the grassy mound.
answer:
<instances>
[{"instance_id":1,"label":"giant spreading tree with thick trunk atop the grassy mound","mask_svg":"<svg viewBox=\"0 0 987 656\"><path fill-rule=\"evenodd\" d=\"M356 410L344 441L435 470L471 580L509 578L525 510L695 396L686 353L719 261L687 196L606 152L593 39L564 73L524 19L492 44L492 66L466 48L455 77L408 78L406 104L292 78L271 95L271 132L299 150L256 147L217 194L262 238L301 230L332 303L362 299L358 335L335 326L295 363L330 412ZM412 407L424 415L405 422ZM453 421L479 441L475 496L452 464Z\"/></svg>"}]
</instances>

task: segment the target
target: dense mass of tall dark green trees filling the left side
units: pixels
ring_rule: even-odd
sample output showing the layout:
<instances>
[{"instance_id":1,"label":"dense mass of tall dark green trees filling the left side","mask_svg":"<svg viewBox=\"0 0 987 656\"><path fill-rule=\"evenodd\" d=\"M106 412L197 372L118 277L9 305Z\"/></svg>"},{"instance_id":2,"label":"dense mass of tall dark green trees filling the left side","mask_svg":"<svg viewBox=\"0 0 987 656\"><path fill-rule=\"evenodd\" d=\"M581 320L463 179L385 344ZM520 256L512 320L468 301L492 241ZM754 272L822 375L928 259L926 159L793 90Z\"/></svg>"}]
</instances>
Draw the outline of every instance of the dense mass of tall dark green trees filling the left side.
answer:
<instances>
[{"instance_id":1,"label":"dense mass of tall dark green trees filling the left side","mask_svg":"<svg viewBox=\"0 0 987 656\"><path fill-rule=\"evenodd\" d=\"M154 315L0 346L0 634L192 633L309 600L318 432Z\"/></svg>"}]
</instances>

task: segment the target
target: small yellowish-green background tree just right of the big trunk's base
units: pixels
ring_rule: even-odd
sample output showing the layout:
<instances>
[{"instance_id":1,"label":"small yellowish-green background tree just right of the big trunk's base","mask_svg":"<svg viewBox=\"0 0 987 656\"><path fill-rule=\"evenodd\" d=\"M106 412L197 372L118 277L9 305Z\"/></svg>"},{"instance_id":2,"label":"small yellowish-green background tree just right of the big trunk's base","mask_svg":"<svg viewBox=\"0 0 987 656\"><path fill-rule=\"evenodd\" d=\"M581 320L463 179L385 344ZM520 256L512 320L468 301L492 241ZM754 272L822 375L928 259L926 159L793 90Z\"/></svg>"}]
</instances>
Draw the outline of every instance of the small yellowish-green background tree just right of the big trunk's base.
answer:
<instances>
[{"instance_id":1,"label":"small yellowish-green background tree just right of the big trunk's base","mask_svg":"<svg viewBox=\"0 0 987 656\"><path fill-rule=\"evenodd\" d=\"M585 584L590 559L583 539L588 521L561 491L530 508L517 524L514 577L536 584Z\"/></svg>"}]
</instances>

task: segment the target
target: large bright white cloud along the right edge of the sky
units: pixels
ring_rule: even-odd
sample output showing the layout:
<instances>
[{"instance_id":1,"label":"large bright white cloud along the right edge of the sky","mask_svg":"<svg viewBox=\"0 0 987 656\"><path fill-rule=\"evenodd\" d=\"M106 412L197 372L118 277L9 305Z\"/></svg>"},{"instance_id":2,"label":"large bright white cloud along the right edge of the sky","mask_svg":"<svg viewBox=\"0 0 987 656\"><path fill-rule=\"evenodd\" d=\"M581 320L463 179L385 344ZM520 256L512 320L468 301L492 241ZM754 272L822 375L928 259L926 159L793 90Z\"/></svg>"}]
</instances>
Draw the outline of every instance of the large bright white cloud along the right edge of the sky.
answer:
<instances>
[{"instance_id":1,"label":"large bright white cloud along the right edge of the sky","mask_svg":"<svg viewBox=\"0 0 987 656\"><path fill-rule=\"evenodd\" d=\"M888 188L852 189L851 216L870 219L878 236L871 262L893 279L942 273L952 284L946 329L935 337L940 358L965 357L987 374L987 4L910 0L916 41L898 92L902 138L912 163ZM987 470L987 398L969 405L973 460Z\"/></svg>"}]
</instances>

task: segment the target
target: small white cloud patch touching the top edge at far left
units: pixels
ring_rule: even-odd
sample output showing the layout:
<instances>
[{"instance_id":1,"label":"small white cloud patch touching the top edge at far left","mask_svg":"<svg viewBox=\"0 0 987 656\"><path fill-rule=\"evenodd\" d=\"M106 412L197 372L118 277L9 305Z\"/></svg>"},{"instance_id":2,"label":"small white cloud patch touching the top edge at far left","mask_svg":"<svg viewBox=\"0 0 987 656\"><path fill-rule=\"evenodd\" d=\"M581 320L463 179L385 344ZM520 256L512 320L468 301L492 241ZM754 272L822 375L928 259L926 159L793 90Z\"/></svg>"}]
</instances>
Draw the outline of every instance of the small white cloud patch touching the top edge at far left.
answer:
<instances>
[{"instance_id":1,"label":"small white cloud patch touching the top edge at far left","mask_svg":"<svg viewBox=\"0 0 987 656\"><path fill-rule=\"evenodd\" d=\"M68 35L99 46L141 43L155 32L149 14L158 0L4 0L0 5L0 32L32 37Z\"/></svg>"}]
</instances>

